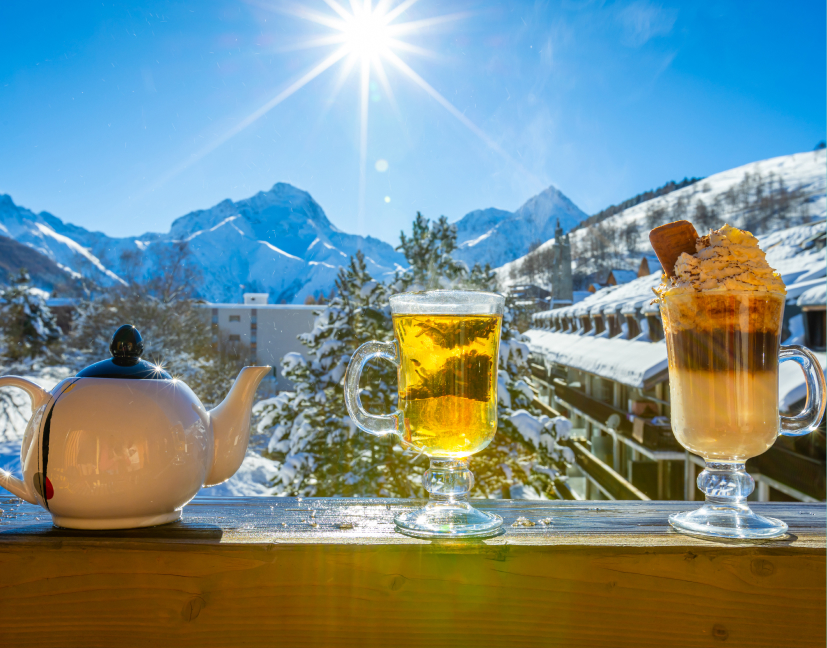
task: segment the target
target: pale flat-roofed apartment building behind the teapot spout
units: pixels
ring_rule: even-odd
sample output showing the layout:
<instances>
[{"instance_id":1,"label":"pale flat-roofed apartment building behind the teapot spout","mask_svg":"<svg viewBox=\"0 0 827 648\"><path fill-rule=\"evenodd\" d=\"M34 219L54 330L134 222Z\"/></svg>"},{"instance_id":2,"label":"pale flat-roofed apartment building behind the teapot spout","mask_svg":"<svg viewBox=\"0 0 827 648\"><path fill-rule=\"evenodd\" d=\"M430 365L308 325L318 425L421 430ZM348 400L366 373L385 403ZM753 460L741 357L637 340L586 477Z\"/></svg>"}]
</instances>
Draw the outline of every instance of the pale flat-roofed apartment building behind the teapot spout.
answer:
<instances>
[{"instance_id":1,"label":"pale flat-roofed apartment building behind the teapot spout","mask_svg":"<svg viewBox=\"0 0 827 648\"><path fill-rule=\"evenodd\" d=\"M305 353L297 339L313 328L320 306L268 304L267 293L245 293L243 304L204 304L211 312L213 344L249 357L249 363L271 365L273 373L263 391L292 389L281 375L281 359L290 352Z\"/></svg>"}]
</instances>

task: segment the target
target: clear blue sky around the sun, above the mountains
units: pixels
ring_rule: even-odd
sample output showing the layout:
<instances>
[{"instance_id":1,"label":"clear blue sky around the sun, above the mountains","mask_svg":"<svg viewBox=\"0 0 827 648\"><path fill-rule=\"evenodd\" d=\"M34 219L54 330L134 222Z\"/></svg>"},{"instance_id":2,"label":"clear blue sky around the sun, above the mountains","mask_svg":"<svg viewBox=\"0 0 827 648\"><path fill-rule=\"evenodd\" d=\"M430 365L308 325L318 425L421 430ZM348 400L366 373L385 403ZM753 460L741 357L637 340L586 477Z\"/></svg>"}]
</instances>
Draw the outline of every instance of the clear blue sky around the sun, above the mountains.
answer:
<instances>
[{"instance_id":1,"label":"clear blue sky around the sun, above the mountains","mask_svg":"<svg viewBox=\"0 0 827 648\"><path fill-rule=\"evenodd\" d=\"M386 60L395 109L373 70L360 200L358 60L239 128L336 51L297 48L335 33L307 9L335 16L321 0L4 3L0 193L125 236L289 182L395 243L417 210L513 210L554 184L594 213L825 138L823 1L419 0L395 22L454 19L402 39L431 54L394 51L455 112Z\"/></svg>"}]
</instances>

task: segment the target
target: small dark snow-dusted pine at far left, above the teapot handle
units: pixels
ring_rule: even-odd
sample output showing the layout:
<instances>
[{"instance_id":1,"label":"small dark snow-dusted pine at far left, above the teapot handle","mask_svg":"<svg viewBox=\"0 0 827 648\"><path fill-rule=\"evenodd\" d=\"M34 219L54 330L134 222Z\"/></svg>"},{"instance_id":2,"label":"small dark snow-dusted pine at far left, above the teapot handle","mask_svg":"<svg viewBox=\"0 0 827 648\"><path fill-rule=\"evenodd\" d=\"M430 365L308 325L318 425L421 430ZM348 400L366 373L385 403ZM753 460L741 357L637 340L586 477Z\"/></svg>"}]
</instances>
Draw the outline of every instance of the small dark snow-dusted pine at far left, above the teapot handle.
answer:
<instances>
[{"instance_id":1,"label":"small dark snow-dusted pine at far left, above the teapot handle","mask_svg":"<svg viewBox=\"0 0 827 648\"><path fill-rule=\"evenodd\" d=\"M48 293L31 285L25 270L0 290L0 335L3 354L12 361L53 355L60 328L46 305Z\"/></svg>"}]
</instances>

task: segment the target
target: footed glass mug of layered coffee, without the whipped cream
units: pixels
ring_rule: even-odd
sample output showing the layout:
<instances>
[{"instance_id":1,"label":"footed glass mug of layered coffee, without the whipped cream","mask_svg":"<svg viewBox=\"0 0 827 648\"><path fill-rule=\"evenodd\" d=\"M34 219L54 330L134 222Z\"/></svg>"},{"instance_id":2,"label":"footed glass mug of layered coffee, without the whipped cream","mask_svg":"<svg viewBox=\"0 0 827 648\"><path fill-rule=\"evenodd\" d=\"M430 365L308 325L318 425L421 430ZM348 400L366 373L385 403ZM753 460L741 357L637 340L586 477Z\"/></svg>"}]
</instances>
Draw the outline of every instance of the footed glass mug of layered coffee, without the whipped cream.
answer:
<instances>
[{"instance_id":1,"label":"footed glass mug of layered coffee, without the whipped cream","mask_svg":"<svg viewBox=\"0 0 827 648\"><path fill-rule=\"evenodd\" d=\"M800 346L779 347L784 295L769 291L666 293L661 315L669 356L672 429L706 467L698 488L706 503L676 513L676 529L727 538L773 538L787 525L753 513L755 482L747 459L766 452L779 432L806 434L824 414L824 374ZM779 416L778 363L804 370L807 403L797 416Z\"/></svg>"}]
</instances>

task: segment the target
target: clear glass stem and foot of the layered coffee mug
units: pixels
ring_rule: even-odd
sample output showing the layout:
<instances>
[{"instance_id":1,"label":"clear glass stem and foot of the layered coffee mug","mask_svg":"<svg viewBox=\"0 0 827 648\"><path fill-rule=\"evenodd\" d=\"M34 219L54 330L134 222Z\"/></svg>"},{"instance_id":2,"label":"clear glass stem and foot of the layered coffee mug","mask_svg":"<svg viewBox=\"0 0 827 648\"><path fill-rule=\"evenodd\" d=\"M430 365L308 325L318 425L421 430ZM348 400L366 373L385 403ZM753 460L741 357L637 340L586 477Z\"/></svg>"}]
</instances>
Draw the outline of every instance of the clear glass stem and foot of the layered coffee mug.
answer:
<instances>
[{"instance_id":1,"label":"clear glass stem and foot of the layered coffee mug","mask_svg":"<svg viewBox=\"0 0 827 648\"><path fill-rule=\"evenodd\" d=\"M744 540L777 538L787 532L781 520L752 512L747 497L755 481L744 464L706 462L698 475L698 488L706 494L706 503L695 511L673 513L669 524L676 530L695 535Z\"/></svg>"}]
</instances>

